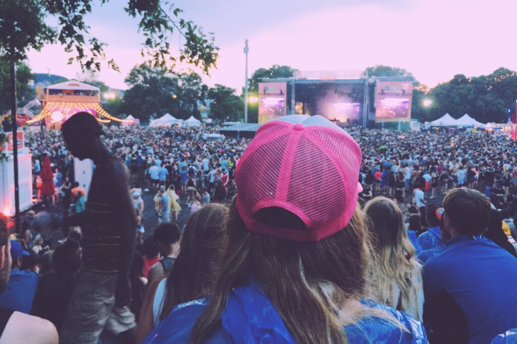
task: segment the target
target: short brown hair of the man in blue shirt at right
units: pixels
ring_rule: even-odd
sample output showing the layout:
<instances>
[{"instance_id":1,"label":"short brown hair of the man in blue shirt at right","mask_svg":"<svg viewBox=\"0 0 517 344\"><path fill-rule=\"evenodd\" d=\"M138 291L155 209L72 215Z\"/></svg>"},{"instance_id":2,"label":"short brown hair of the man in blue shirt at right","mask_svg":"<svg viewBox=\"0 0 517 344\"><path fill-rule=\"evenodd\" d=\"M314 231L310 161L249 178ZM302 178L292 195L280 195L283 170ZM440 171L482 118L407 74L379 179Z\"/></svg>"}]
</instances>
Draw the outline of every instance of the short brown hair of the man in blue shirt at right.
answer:
<instances>
[{"instance_id":1,"label":"short brown hair of the man in blue shirt at right","mask_svg":"<svg viewBox=\"0 0 517 344\"><path fill-rule=\"evenodd\" d=\"M490 221L490 200L481 192L466 188L448 191L444 198L445 216L462 235L481 235Z\"/></svg>"}]
</instances>

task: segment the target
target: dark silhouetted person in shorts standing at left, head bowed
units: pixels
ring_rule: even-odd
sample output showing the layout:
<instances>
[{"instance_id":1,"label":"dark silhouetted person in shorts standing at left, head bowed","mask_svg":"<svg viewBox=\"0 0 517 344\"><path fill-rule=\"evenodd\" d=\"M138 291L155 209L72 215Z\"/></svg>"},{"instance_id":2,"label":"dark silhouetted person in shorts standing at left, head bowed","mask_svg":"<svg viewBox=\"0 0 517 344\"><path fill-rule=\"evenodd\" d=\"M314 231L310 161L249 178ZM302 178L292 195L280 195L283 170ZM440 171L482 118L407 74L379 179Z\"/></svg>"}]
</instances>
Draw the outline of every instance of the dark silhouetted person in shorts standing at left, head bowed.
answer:
<instances>
[{"instance_id":1,"label":"dark silhouetted person in shorts standing at left, head bowed","mask_svg":"<svg viewBox=\"0 0 517 344\"><path fill-rule=\"evenodd\" d=\"M84 254L60 341L97 343L104 329L131 335L135 323L128 307L129 268L136 219L127 168L105 148L100 139L102 128L91 114L73 115L62 132L70 152L81 160L92 159L95 170L85 211L63 220L64 227L81 226Z\"/></svg>"}]
</instances>

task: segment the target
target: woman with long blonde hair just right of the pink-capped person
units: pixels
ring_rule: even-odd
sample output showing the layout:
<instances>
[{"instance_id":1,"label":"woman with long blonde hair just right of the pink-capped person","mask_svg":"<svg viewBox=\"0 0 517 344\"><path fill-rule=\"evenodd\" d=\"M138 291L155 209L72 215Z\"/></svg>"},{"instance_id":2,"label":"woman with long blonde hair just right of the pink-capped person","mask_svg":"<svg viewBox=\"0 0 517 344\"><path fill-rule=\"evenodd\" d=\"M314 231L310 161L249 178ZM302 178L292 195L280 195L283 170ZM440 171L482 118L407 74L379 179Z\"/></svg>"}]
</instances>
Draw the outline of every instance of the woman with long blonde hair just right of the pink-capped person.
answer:
<instances>
[{"instance_id":1,"label":"woman with long blonde hair just right of the pink-capped person","mask_svg":"<svg viewBox=\"0 0 517 344\"><path fill-rule=\"evenodd\" d=\"M413 316L423 313L421 265L404 229L397 203L377 197L364 206L374 247L372 281L376 300Z\"/></svg>"}]
</instances>

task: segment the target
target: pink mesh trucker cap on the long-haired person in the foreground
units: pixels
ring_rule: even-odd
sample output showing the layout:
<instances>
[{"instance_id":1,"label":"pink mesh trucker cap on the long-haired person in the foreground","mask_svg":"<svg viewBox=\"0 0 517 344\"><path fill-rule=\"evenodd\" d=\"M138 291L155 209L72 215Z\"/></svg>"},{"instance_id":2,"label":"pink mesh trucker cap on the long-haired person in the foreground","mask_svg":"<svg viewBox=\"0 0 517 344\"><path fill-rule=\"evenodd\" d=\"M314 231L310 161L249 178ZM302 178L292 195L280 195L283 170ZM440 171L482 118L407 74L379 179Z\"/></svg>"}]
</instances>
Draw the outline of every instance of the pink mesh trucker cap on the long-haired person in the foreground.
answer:
<instances>
[{"instance_id":1,"label":"pink mesh trucker cap on the long-haired person in the foreground","mask_svg":"<svg viewBox=\"0 0 517 344\"><path fill-rule=\"evenodd\" d=\"M237 210L254 233L291 241L318 241L352 218L361 149L321 116L293 114L262 125L236 167ZM263 208L280 207L307 226L300 231L258 222Z\"/></svg>"}]
</instances>

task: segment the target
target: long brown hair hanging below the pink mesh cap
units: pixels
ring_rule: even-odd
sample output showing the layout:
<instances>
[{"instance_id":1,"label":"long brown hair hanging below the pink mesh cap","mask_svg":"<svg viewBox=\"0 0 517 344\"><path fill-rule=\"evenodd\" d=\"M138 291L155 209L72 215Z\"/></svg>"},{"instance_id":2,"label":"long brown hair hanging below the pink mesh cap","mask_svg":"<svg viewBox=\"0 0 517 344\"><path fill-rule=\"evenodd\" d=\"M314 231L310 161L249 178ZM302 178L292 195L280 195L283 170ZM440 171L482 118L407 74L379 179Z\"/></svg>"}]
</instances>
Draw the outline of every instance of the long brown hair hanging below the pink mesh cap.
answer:
<instances>
[{"instance_id":1,"label":"long brown hair hanging below the pink mesh cap","mask_svg":"<svg viewBox=\"0 0 517 344\"><path fill-rule=\"evenodd\" d=\"M343 326L375 313L357 302L367 291L370 261L368 232L359 207L342 231L317 242L294 242L247 230L234 200L227 230L229 240L214 295L194 325L190 344L208 338L231 289L251 277L299 343L346 342Z\"/></svg>"}]
</instances>

